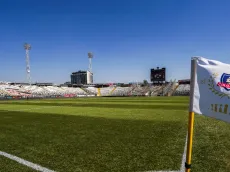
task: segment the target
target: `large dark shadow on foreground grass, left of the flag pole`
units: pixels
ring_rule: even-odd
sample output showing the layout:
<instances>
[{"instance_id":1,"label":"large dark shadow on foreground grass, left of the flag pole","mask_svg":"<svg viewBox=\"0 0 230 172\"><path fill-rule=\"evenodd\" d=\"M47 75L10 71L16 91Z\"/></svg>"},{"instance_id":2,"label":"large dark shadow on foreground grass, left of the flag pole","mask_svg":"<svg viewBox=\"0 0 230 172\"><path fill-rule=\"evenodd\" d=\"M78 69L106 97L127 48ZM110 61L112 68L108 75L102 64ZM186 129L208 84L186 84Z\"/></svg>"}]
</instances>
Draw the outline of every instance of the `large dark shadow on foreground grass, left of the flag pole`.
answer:
<instances>
[{"instance_id":1,"label":"large dark shadow on foreground grass, left of the flag pole","mask_svg":"<svg viewBox=\"0 0 230 172\"><path fill-rule=\"evenodd\" d=\"M185 132L175 121L0 111L1 151L56 171L179 170Z\"/></svg>"}]
</instances>

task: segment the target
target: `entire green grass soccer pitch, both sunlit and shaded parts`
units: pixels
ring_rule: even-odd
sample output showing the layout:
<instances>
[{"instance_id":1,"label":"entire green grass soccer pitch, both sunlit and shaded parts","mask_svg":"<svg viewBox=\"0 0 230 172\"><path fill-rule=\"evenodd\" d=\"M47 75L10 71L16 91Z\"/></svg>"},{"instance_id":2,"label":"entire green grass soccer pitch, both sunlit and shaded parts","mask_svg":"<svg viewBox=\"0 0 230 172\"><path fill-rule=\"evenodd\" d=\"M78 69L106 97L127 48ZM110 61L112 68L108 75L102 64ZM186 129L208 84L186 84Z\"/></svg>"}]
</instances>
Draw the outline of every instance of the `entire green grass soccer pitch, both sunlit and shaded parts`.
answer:
<instances>
[{"instance_id":1,"label":"entire green grass soccer pitch, both sunlit and shaded parts","mask_svg":"<svg viewBox=\"0 0 230 172\"><path fill-rule=\"evenodd\" d=\"M0 101L0 151L54 171L179 171L188 97ZM0 156L0 171L32 169ZM195 116L194 172L230 172L230 125Z\"/></svg>"}]
</instances>

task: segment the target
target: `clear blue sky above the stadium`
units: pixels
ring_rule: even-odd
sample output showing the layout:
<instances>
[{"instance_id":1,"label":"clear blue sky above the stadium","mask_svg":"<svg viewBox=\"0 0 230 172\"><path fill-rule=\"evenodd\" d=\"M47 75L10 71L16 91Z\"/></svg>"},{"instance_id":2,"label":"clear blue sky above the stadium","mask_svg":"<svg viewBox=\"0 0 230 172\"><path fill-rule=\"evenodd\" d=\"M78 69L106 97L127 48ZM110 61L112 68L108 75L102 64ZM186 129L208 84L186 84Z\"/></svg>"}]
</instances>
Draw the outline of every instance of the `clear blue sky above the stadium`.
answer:
<instances>
[{"instance_id":1,"label":"clear blue sky above the stadium","mask_svg":"<svg viewBox=\"0 0 230 172\"><path fill-rule=\"evenodd\" d=\"M0 81L25 82L32 45L35 82L63 83L88 68L94 81L149 80L166 67L167 80L187 79L191 56L230 63L230 1L1 0Z\"/></svg>"}]
</instances>

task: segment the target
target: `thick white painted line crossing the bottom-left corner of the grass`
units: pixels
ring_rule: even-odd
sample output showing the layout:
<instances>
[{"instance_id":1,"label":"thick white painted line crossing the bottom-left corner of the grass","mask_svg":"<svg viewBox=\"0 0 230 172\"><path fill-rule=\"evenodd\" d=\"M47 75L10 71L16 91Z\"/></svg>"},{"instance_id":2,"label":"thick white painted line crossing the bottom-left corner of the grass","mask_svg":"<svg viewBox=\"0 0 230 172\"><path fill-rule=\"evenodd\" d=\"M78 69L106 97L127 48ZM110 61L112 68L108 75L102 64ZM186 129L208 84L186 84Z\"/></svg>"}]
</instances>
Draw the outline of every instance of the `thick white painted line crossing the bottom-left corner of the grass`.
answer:
<instances>
[{"instance_id":1,"label":"thick white painted line crossing the bottom-left corner of the grass","mask_svg":"<svg viewBox=\"0 0 230 172\"><path fill-rule=\"evenodd\" d=\"M0 156L4 156L6 158L14 160L14 161L18 162L19 164L23 164L23 165L25 165L27 167L30 167L30 168L32 168L34 170L37 170L37 171L41 171L41 172L55 172L53 170L50 170L50 169L45 168L45 167L42 167L42 166L40 166L38 164L34 164L32 162L26 161L26 160L24 160L22 158L19 158L17 156L11 155L11 154L8 154L6 152L0 151Z\"/></svg>"}]
</instances>

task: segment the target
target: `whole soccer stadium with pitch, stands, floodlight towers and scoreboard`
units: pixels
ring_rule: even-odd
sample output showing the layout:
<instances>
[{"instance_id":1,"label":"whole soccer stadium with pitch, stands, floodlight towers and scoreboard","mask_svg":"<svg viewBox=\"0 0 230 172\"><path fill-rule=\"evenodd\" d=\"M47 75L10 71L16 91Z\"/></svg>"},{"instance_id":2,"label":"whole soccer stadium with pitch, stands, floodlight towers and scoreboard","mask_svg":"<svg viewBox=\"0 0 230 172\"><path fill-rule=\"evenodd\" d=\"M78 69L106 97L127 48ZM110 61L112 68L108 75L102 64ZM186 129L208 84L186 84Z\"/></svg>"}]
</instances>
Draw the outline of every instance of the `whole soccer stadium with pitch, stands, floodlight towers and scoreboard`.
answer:
<instances>
[{"instance_id":1,"label":"whole soccer stadium with pitch, stands, floodlight towers and scoreboard","mask_svg":"<svg viewBox=\"0 0 230 172\"><path fill-rule=\"evenodd\" d=\"M157 67L151 83L97 84L88 53L89 70L73 72L71 82L33 83L27 46L27 82L0 82L1 171L190 170L190 79L167 81ZM195 115L193 171L229 171L229 129Z\"/></svg>"}]
</instances>

